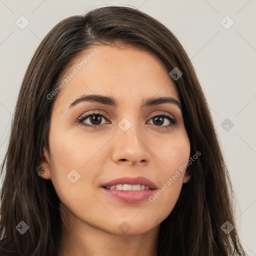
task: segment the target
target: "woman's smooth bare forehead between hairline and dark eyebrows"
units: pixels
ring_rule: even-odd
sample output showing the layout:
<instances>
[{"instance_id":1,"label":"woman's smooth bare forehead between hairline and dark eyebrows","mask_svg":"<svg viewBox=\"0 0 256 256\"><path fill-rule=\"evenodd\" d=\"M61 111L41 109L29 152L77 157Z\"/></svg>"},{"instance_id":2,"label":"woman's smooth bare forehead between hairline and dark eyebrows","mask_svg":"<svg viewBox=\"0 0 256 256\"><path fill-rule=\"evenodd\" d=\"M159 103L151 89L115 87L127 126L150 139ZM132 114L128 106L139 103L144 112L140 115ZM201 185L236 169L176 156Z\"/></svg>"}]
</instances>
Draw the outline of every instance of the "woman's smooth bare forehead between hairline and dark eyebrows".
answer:
<instances>
[{"instance_id":1,"label":"woman's smooth bare forehead between hairline and dark eyebrows","mask_svg":"<svg viewBox=\"0 0 256 256\"><path fill-rule=\"evenodd\" d=\"M164 64L150 51L133 46L97 45L82 51L67 65L61 83L57 100L68 102L93 93L120 101L154 95L179 99Z\"/></svg>"}]
</instances>

